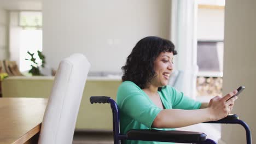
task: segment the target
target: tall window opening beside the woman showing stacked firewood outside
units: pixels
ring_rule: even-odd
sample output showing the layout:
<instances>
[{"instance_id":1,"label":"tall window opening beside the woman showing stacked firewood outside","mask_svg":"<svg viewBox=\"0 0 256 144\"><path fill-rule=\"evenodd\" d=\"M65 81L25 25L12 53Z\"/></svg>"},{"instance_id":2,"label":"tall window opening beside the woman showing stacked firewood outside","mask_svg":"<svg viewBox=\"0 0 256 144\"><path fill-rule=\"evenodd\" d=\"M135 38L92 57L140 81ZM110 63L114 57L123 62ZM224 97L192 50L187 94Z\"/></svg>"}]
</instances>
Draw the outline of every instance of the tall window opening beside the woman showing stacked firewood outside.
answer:
<instances>
[{"instance_id":1,"label":"tall window opening beside the woman showing stacked firewood outside","mask_svg":"<svg viewBox=\"0 0 256 144\"><path fill-rule=\"evenodd\" d=\"M196 90L197 96L214 97L222 95L225 1L208 2L199 1L197 11Z\"/></svg>"}]
</instances>

